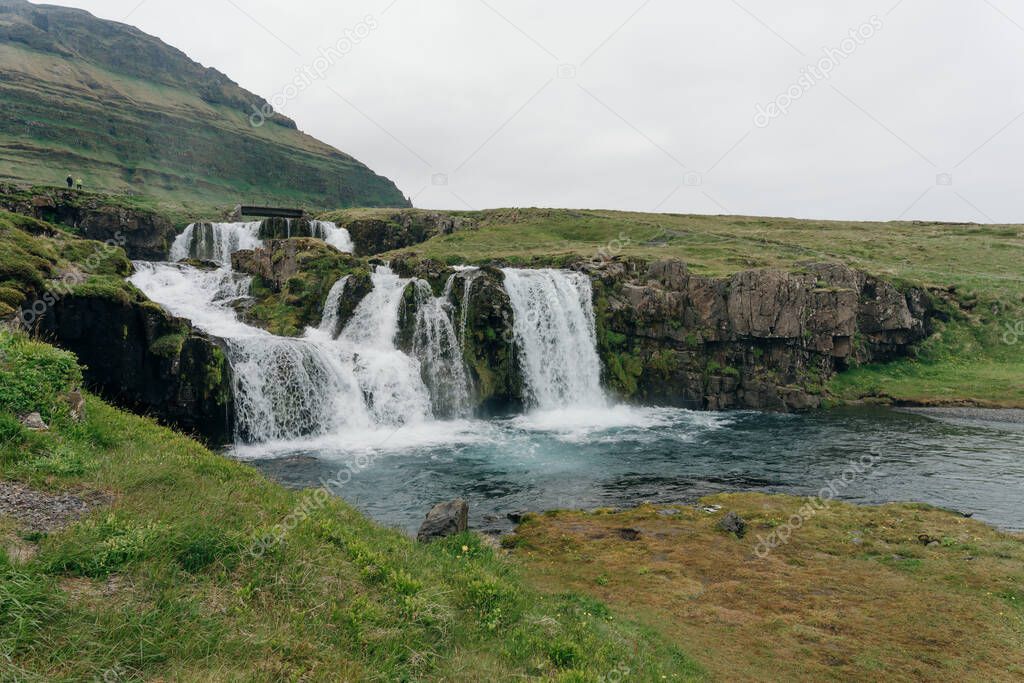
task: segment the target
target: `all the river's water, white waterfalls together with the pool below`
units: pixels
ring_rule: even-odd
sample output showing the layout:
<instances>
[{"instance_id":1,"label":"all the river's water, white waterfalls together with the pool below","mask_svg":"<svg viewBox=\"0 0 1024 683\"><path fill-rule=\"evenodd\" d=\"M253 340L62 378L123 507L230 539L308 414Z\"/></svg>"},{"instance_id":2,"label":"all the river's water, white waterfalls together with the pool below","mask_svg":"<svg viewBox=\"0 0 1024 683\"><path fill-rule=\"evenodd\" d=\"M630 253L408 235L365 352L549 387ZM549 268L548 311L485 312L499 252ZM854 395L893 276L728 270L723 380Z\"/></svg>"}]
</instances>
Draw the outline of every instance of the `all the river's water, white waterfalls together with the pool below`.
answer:
<instances>
[{"instance_id":1,"label":"all the river's water, white waterfalls together with the pool below","mask_svg":"<svg viewBox=\"0 0 1024 683\"><path fill-rule=\"evenodd\" d=\"M350 249L347 232L332 225L314 231ZM471 269L460 273L461 316L455 276L435 296L427 283L378 266L344 329L338 304L347 279L331 288L318 327L275 337L232 307L249 279L231 271L230 254L258 247L258 223L190 226L172 260L219 268L136 263L131 280L225 340L236 457L302 486L348 468L355 474L334 493L387 523L412 529L433 503L459 496L470 500L475 526L503 529L506 514L521 509L690 503L720 490L814 495L873 453L878 465L838 498L924 501L1024 528L1020 429L881 409L782 416L616 404L601 385L590 281L574 272L504 270L528 410L474 419L461 345ZM403 300L416 306L409 352L397 347Z\"/></svg>"}]
</instances>

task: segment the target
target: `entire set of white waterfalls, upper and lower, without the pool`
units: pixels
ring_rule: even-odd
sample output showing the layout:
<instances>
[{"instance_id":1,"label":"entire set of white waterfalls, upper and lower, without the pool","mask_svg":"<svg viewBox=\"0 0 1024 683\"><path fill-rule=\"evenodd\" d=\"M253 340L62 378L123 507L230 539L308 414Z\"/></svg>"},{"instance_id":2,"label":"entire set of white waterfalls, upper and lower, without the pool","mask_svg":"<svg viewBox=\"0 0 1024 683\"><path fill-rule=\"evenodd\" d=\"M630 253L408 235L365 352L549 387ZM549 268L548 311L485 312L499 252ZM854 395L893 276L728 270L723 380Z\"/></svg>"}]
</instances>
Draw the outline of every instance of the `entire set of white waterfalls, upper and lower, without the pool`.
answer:
<instances>
[{"instance_id":1,"label":"entire set of white waterfalls, upper and lower, without the pool","mask_svg":"<svg viewBox=\"0 0 1024 683\"><path fill-rule=\"evenodd\" d=\"M331 225L316 223L315 230L339 239L340 231L331 237ZM470 414L461 341L479 271L460 268L434 296L425 281L377 266L373 289L343 330L338 308L347 276L331 288L317 328L300 338L276 337L243 323L234 309L251 279L231 271L230 253L258 246L258 230L259 223L196 223L175 241L172 256L212 256L220 268L139 262L131 278L172 314L224 341L239 442L344 438ZM590 280L561 270L509 268L504 274L528 404L549 412L604 407ZM458 280L463 290L457 293ZM412 332L402 337L409 353L397 342L403 302L415 305L412 330L402 328Z\"/></svg>"}]
</instances>

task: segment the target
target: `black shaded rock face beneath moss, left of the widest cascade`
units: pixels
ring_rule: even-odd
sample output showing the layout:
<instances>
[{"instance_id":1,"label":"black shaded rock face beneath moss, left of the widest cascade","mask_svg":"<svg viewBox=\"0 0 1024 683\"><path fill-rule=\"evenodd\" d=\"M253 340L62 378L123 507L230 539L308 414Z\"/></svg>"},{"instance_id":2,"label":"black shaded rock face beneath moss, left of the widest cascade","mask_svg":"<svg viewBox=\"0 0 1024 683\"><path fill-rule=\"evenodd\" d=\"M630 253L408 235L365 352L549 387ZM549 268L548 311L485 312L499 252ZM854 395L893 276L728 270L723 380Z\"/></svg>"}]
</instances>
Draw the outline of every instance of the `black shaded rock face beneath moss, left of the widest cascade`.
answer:
<instances>
[{"instance_id":1,"label":"black shaded rock face beneath moss, left of the widest cascade","mask_svg":"<svg viewBox=\"0 0 1024 683\"><path fill-rule=\"evenodd\" d=\"M47 310L36 333L78 355L86 383L111 402L213 445L231 441L231 377L223 352L157 304L72 294Z\"/></svg>"}]
</instances>

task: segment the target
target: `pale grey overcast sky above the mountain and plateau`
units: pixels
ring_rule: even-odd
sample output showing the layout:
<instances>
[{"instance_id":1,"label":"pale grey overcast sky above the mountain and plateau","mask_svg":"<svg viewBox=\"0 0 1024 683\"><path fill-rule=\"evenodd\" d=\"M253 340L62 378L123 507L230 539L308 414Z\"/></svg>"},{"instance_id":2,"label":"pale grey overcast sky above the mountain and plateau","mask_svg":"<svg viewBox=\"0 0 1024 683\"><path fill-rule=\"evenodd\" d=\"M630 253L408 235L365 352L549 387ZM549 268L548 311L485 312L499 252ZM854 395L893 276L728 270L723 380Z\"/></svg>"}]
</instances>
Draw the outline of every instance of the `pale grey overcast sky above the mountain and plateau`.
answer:
<instances>
[{"instance_id":1,"label":"pale grey overcast sky above the mountain and plateau","mask_svg":"<svg viewBox=\"0 0 1024 683\"><path fill-rule=\"evenodd\" d=\"M276 96L419 207L1024 222L1019 1L61 4Z\"/></svg>"}]
</instances>

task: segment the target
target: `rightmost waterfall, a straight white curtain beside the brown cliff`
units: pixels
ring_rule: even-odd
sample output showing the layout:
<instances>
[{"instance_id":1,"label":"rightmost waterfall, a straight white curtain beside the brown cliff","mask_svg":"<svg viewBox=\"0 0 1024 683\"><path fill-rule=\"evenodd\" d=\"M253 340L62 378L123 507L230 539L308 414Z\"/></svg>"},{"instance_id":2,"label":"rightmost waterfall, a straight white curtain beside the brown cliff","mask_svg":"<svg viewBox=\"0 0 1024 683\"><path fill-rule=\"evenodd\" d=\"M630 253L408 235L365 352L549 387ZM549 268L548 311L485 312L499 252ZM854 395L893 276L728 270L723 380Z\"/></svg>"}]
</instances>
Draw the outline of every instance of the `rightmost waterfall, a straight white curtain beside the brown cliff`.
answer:
<instances>
[{"instance_id":1,"label":"rightmost waterfall, a straight white curtain beside the brown cliff","mask_svg":"<svg viewBox=\"0 0 1024 683\"><path fill-rule=\"evenodd\" d=\"M605 405L590 279L553 269L503 272L529 404Z\"/></svg>"}]
</instances>

